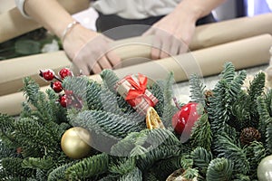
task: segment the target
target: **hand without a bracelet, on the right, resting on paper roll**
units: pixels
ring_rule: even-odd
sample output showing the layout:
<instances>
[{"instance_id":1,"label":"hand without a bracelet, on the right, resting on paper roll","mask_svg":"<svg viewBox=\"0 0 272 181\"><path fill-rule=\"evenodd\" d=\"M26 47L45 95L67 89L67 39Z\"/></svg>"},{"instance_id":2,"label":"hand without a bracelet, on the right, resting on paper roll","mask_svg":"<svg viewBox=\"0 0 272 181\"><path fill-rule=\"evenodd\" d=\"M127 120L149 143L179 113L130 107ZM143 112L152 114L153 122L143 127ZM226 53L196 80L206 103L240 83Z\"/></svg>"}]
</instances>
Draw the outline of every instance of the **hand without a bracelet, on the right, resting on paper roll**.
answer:
<instances>
[{"instance_id":1,"label":"hand without a bracelet, on the right, resting on paper roll","mask_svg":"<svg viewBox=\"0 0 272 181\"><path fill-rule=\"evenodd\" d=\"M184 12L173 11L153 24L143 35L153 35L151 59L161 59L188 51L196 21Z\"/></svg>"}]
</instances>

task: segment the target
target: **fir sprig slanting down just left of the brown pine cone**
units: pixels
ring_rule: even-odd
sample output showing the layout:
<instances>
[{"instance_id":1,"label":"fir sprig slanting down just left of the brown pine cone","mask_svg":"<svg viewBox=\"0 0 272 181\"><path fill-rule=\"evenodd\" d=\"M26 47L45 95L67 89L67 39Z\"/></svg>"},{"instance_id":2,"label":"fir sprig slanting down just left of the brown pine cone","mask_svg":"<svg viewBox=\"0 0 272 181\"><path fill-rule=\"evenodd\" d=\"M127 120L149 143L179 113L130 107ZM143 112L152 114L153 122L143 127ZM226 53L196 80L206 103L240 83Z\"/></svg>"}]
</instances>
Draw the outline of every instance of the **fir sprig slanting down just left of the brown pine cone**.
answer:
<instances>
[{"instance_id":1,"label":"fir sprig slanting down just left of the brown pine cone","mask_svg":"<svg viewBox=\"0 0 272 181\"><path fill-rule=\"evenodd\" d=\"M229 138L228 135L218 135L216 138L216 150L218 157L226 157L234 164L235 172L247 174L249 172L249 162L245 150L240 148L235 140Z\"/></svg>"}]
</instances>

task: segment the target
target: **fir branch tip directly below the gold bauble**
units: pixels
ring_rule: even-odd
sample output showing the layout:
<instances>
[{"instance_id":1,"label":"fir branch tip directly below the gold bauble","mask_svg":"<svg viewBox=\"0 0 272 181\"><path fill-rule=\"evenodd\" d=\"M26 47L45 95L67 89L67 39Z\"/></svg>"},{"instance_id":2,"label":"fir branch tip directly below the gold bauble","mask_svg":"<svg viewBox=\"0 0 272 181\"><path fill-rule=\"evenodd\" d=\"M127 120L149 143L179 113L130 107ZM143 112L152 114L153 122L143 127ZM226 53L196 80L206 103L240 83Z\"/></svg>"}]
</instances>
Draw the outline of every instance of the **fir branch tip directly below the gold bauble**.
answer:
<instances>
[{"instance_id":1,"label":"fir branch tip directly below the gold bauble","mask_svg":"<svg viewBox=\"0 0 272 181\"><path fill-rule=\"evenodd\" d=\"M107 154L94 155L83 158L80 162L68 167L65 177L68 180L83 180L92 176L99 176L107 172L109 167L109 157Z\"/></svg>"}]
</instances>

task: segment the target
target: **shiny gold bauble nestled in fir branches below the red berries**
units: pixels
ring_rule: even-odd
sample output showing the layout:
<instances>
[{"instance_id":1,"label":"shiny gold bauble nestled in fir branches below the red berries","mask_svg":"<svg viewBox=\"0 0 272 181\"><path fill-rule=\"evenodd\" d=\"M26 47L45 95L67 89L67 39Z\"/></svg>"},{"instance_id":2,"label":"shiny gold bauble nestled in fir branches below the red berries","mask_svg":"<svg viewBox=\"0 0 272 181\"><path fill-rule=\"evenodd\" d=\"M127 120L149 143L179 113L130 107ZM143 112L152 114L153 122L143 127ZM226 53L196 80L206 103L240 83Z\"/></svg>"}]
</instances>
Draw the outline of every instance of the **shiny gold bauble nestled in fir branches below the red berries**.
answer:
<instances>
[{"instance_id":1,"label":"shiny gold bauble nestled in fir branches below the red berries","mask_svg":"<svg viewBox=\"0 0 272 181\"><path fill-rule=\"evenodd\" d=\"M64 154L73 159L80 159L90 155L92 138L88 130L74 127L64 132L61 146Z\"/></svg>"}]
</instances>

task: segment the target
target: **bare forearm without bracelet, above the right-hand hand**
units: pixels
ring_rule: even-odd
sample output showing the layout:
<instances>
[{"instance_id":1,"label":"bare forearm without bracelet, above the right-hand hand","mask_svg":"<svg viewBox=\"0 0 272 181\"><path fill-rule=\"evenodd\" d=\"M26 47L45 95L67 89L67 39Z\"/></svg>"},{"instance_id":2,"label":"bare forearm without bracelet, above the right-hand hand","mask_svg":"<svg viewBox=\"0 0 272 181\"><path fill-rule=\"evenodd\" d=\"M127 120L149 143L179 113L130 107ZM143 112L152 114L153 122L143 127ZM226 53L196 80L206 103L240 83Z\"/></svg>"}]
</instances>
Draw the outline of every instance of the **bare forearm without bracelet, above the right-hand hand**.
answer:
<instances>
[{"instance_id":1,"label":"bare forearm without bracelet, above the right-hand hand","mask_svg":"<svg viewBox=\"0 0 272 181\"><path fill-rule=\"evenodd\" d=\"M175 11L187 14L193 21L209 14L226 0L182 0Z\"/></svg>"}]
</instances>

